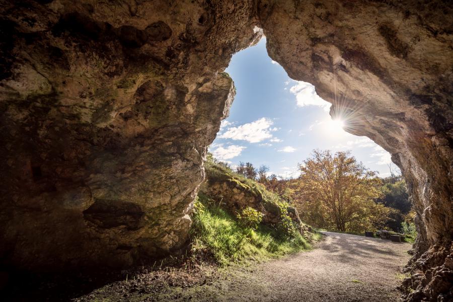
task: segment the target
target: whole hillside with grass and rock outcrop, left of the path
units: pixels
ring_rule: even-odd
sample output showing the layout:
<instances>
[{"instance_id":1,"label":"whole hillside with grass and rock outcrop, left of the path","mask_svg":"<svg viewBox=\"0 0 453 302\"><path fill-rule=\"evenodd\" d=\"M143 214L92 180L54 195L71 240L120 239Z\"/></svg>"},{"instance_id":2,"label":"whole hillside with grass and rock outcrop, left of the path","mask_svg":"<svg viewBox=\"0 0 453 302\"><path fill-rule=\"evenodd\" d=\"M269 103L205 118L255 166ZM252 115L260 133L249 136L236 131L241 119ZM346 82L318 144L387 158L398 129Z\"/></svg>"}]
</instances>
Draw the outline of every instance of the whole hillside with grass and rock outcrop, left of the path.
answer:
<instances>
[{"instance_id":1,"label":"whole hillside with grass and rock outcrop, left of the path","mask_svg":"<svg viewBox=\"0 0 453 302\"><path fill-rule=\"evenodd\" d=\"M220 163L208 161L194 204L194 257L220 265L262 261L311 249L321 235L300 221L297 209Z\"/></svg>"}]
</instances>

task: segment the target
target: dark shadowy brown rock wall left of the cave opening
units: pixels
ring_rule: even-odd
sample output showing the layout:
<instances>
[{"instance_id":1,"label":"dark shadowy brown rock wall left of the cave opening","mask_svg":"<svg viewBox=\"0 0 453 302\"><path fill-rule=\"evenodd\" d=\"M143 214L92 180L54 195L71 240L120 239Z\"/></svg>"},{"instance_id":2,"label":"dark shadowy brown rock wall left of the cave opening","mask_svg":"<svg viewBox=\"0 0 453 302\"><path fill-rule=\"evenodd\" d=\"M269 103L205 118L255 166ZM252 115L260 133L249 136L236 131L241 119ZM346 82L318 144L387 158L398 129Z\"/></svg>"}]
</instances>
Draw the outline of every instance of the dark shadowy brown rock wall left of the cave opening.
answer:
<instances>
[{"instance_id":1,"label":"dark shadowy brown rock wall left of the cave opening","mask_svg":"<svg viewBox=\"0 0 453 302\"><path fill-rule=\"evenodd\" d=\"M247 1L2 1L0 259L127 266L187 241ZM0 264L2 264L0 263Z\"/></svg>"}]
</instances>

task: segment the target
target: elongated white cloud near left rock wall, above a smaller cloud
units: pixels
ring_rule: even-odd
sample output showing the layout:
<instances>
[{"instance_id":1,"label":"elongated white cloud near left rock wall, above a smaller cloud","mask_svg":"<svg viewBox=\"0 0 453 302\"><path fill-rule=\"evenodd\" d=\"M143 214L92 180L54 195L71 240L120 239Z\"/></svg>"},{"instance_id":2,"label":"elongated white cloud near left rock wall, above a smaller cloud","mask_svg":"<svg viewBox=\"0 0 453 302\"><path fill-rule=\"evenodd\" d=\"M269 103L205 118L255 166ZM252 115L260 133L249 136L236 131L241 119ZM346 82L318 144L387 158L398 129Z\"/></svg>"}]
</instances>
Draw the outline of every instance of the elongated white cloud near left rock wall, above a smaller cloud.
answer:
<instances>
[{"instance_id":1,"label":"elongated white cloud near left rock wall, above a smaller cloud","mask_svg":"<svg viewBox=\"0 0 453 302\"><path fill-rule=\"evenodd\" d=\"M247 123L238 127L230 127L224 133L220 134L220 138L231 138L234 140L247 140L248 142L260 142L265 139L272 138L270 133L275 128L270 128L274 122L268 118L260 118L251 123Z\"/></svg>"}]
</instances>

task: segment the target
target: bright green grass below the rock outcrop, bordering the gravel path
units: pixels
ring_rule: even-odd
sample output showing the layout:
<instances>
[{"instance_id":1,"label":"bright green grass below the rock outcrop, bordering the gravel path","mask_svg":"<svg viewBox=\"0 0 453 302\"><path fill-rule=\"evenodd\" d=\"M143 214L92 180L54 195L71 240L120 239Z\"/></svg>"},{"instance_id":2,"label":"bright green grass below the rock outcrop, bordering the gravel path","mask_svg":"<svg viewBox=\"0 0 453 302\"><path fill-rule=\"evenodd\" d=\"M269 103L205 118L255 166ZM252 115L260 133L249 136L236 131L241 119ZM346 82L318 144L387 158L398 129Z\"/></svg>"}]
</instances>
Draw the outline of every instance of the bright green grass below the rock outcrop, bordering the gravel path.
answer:
<instances>
[{"instance_id":1,"label":"bright green grass below the rock outcrop, bordering the gravel path","mask_svg":"<svg viewBox=\"0 0 453 302\"><path fill-rule=\"evenodd\" d=\"M256 230L245 228L225 209L199 194L195 202L190 231L192 254L213 257L220 266L250 261L262 262L312 248L300 234L290 238L281 231L260 224ZM315 234L313 240L319 240Z\"/></svg>"}]
</instances>

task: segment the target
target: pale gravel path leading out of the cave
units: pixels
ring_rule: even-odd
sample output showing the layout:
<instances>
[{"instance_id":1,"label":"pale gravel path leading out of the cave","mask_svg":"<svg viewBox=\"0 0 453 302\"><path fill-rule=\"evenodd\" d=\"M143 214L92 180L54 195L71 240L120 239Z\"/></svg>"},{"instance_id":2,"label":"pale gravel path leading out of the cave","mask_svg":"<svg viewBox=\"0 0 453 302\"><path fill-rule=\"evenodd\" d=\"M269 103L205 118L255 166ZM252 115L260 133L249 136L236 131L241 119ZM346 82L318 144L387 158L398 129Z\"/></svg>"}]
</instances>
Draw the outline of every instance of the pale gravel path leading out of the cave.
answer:
<instances>
[{"instance_id":1,"label":"pale gravel path leading out of the cave","mask_svg":"<svg viewBox=\"0 0 453 302\"><path fill-rule=\"evenodd\" d=\"M398 301L408 243L324 233L310 252L214 272L199 282L156 286L117 281L73 301ZM176 286L175 286L176 285Z\"/></svg>"}]
</instances>

